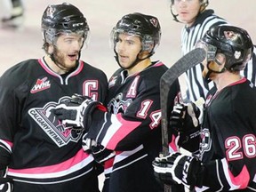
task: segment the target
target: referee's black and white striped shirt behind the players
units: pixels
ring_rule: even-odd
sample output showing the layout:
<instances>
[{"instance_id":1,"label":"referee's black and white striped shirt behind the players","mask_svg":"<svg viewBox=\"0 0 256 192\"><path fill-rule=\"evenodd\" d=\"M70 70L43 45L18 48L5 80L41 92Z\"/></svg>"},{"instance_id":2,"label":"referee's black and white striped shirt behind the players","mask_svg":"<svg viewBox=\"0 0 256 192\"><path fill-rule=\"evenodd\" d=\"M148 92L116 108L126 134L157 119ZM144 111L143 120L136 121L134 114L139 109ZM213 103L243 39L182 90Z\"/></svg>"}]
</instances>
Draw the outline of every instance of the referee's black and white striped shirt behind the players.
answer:
<instances>
[{"instance_id":1,"label":"referee's black and white striped shirt behind the players","mask_svg":"<svg viewBox=\"0 0 256 192\"><path fill-rule=\"evenodd\" d=\"M209 28L228 24L227 20L215 15L213 10L206 10L199 14L191 27L184 27L181 31L181 49L185 55L195 47L196 42L201 39ZM207 84L202 76L203 65L196 65L186 72L187 99L195 101L200 97L205 99L207 92L212 88L213 83Z\"/></svg>"}]
</instances>

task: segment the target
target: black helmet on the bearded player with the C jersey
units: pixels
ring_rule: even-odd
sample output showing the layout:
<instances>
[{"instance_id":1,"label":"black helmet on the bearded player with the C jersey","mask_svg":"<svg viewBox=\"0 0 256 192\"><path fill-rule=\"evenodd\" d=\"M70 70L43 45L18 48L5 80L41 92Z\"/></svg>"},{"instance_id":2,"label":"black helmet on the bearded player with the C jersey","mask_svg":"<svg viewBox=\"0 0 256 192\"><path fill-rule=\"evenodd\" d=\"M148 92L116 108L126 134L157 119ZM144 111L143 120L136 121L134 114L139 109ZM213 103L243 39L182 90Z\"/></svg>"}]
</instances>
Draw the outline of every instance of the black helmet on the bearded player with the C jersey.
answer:
<instances>
[{"instance_id":1,"label":"black helmet on the bearded player with the C jersey","mask_svg":"<svg viewBox=\"0 0 256 192\"><path fill-rule=\"evenodd\" d=\"M43 13L41 28L44 42L54 44L60 33L82 33L87 39L89 26L82 12L68 3L50 4Z\"/></svg>"}]
</instances>

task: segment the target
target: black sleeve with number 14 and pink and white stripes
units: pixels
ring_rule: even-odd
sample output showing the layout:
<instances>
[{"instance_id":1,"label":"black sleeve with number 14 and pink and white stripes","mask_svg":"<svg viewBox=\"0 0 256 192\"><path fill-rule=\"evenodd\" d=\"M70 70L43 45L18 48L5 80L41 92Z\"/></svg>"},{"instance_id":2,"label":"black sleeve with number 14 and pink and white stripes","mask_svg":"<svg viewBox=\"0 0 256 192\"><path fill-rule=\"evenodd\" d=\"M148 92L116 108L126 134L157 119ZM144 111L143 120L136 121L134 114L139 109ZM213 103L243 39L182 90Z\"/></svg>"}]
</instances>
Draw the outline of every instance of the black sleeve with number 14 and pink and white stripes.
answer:
<instances>
[{"instance_id":1,"label":"black sleeve with number 14 and pink and white stripes","mask_svg":"<svg viewBox=\"0 0 256 192\"><path fill-rule=\"evenodd\" d=\"M143 85L145 87L145 85ZM180 91L180 86L172 87L172 106ZM88 132L88 138L98 141L111 150L131 150L161 134L161 110L159 86L140 91L125 109L124 113L107 113L97 111Z\"/></svg>"}]
</instances>

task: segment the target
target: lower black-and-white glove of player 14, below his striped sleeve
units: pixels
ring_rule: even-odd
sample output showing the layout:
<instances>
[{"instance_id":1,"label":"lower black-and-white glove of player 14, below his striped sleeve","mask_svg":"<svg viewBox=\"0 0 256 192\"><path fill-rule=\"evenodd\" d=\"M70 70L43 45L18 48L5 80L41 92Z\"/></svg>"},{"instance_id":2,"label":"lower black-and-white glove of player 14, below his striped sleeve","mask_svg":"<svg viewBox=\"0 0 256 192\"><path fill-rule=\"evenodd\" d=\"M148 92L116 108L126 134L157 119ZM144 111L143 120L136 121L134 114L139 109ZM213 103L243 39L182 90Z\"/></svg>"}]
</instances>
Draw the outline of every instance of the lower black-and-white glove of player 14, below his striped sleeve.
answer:
<instances>
[{"instance_id":1,"label":"lower black-and-white glove of player 14, below his striped sleeve","mask_svg":"<svg viewBox=\"0 0 256 192\"><path fill-rule=\"evenodd\" d=\"M115 151L105 148L104 146L97 143L95 140L86 138L86 133L84 134L82 139L82 147L84 151L91 152L94 160L99 164L104 164L105 161L112 158L113 156L116 156Z\"/></svg>"}]
</instances>

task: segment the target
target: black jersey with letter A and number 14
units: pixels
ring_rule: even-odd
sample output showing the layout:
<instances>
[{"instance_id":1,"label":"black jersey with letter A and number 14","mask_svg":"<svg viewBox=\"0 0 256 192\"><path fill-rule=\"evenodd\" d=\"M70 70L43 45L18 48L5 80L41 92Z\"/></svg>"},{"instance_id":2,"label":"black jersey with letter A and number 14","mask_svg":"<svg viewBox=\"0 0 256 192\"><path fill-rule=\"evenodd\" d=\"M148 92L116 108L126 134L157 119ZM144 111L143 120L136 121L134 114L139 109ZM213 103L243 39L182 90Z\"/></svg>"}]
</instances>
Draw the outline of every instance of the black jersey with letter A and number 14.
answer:
<instances>
[{"instance_id":1,"label":"black jersey with letter A and number 14","mask_svg":"<svg viewBox=\"0 0 256 192\"><path fill-rule=\"evenodd\" d=\"M162 151L160 77L168 68L160 61L127 76L119 69L108 81L108 112L97 111L87 137L114 150L105 163L105 192L156 192L152 161ZM180 93L172 85L170 111Z\"/></svg>"}]
</instances>

